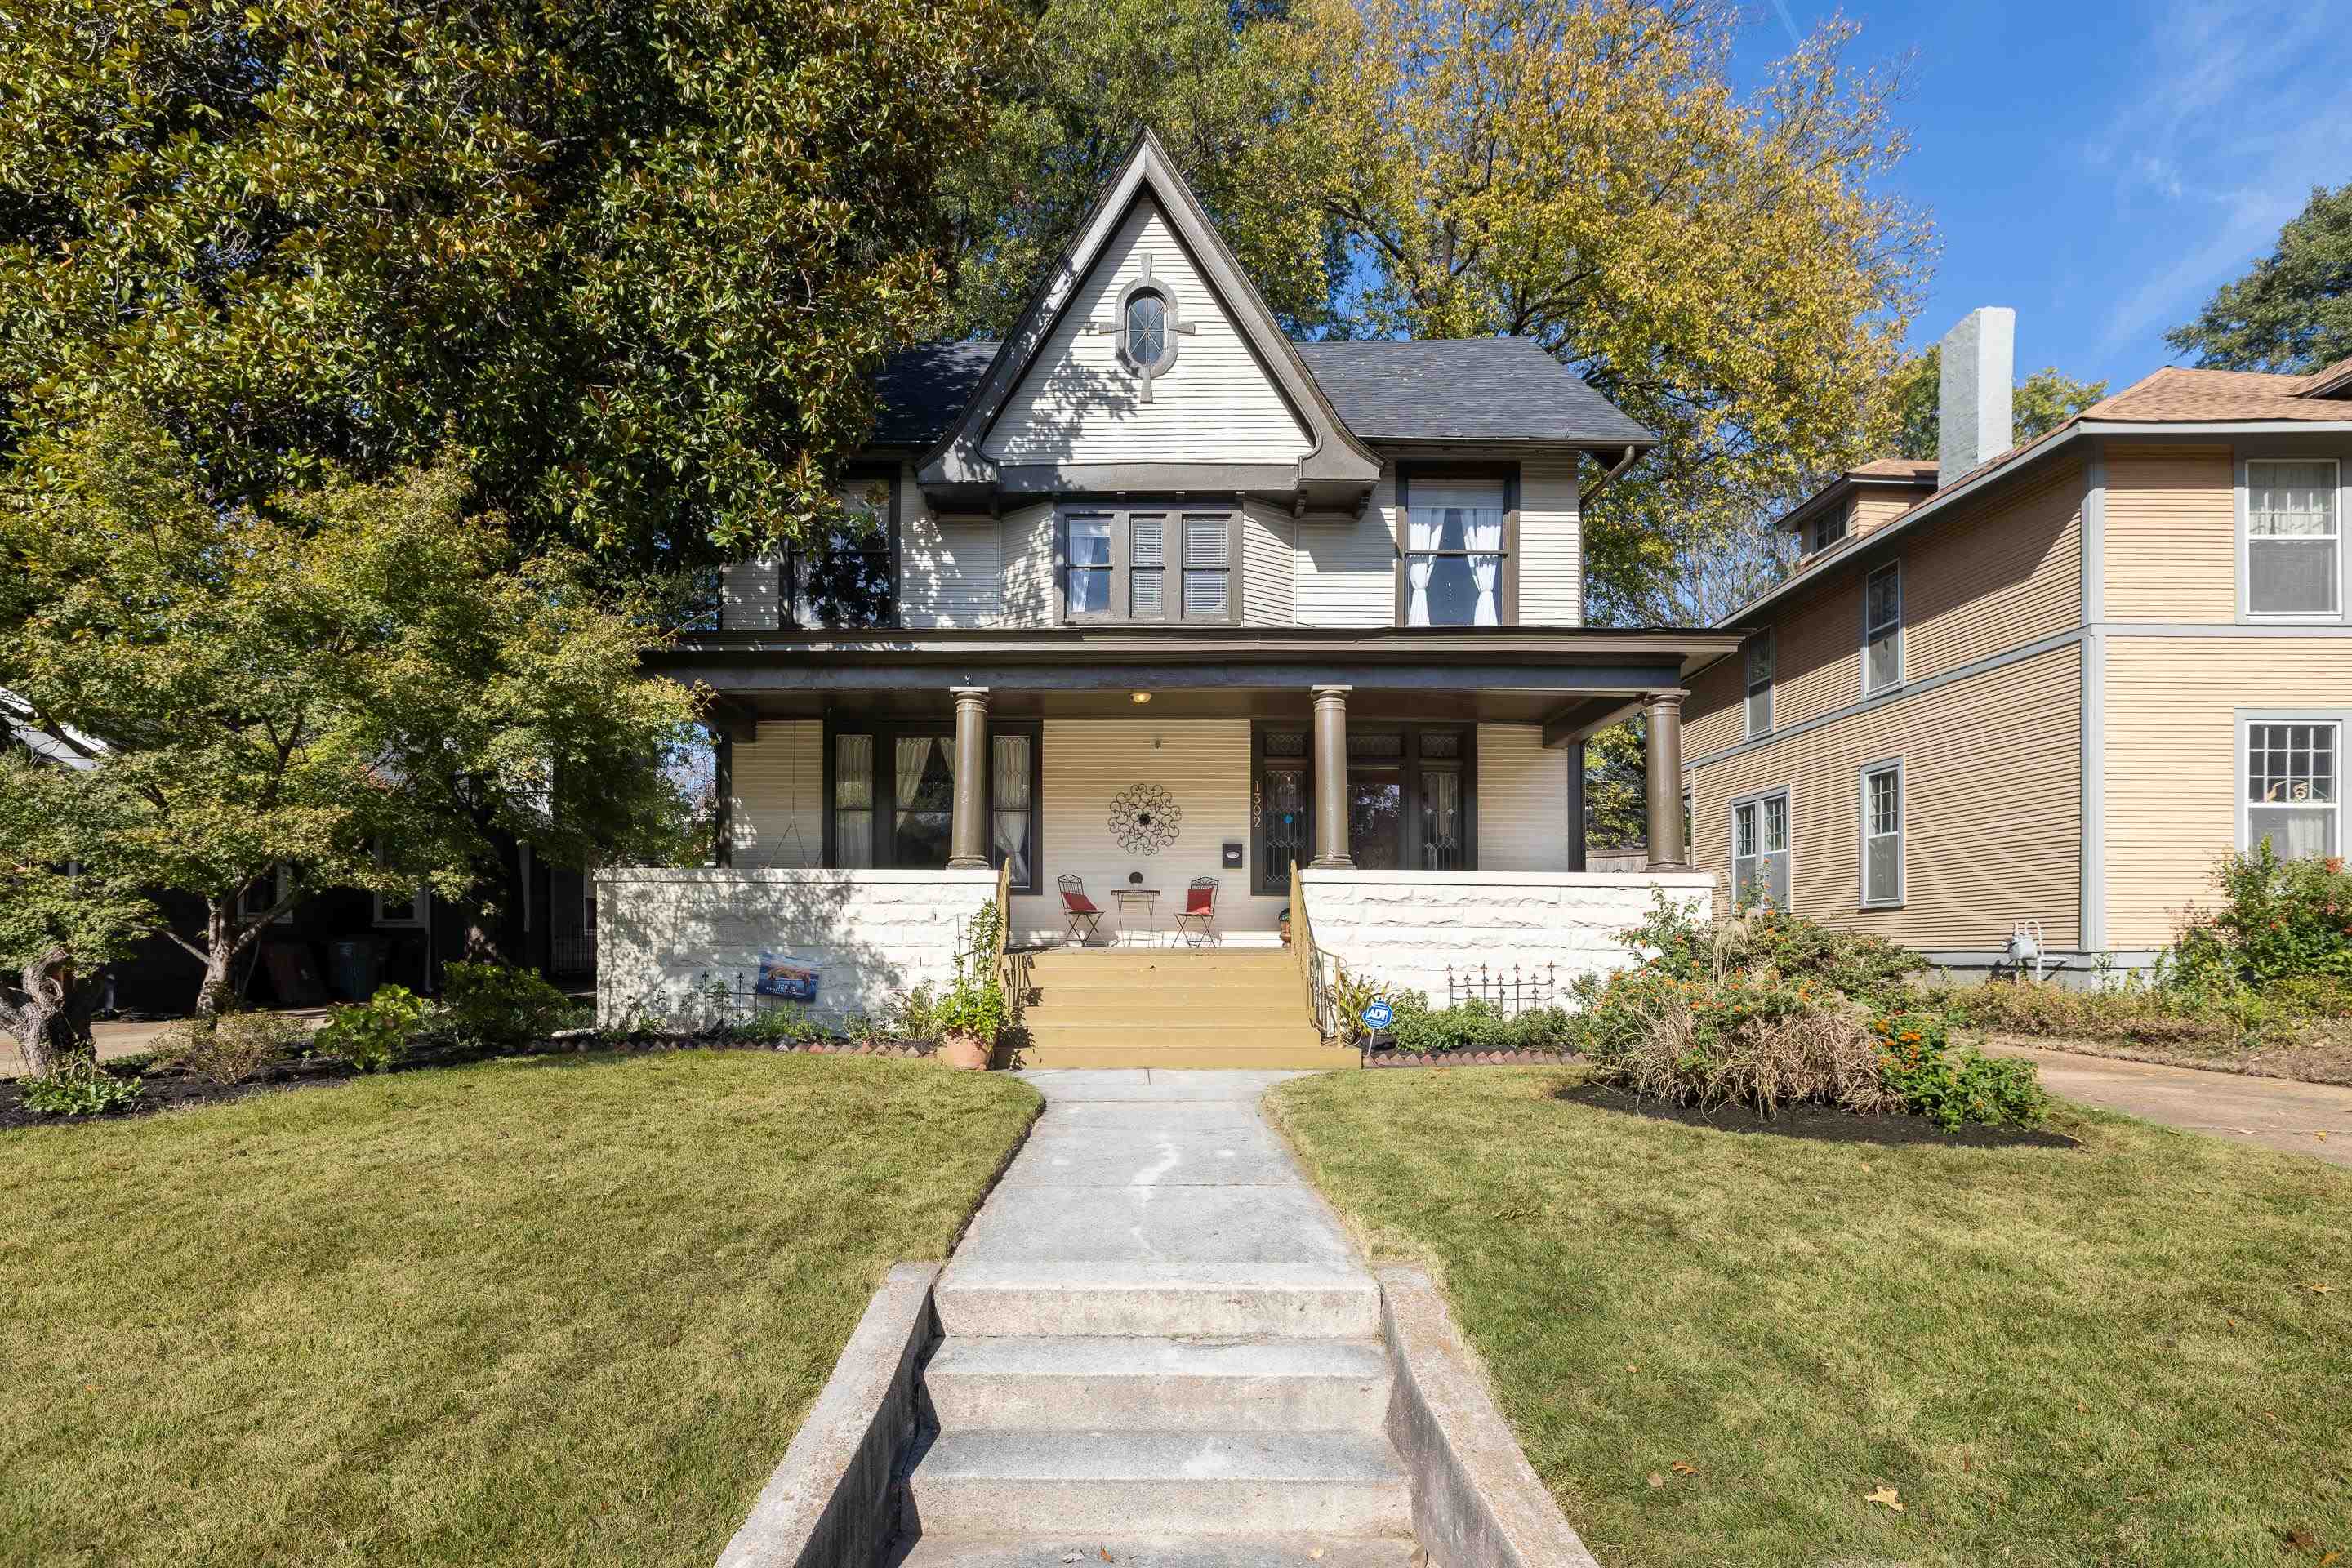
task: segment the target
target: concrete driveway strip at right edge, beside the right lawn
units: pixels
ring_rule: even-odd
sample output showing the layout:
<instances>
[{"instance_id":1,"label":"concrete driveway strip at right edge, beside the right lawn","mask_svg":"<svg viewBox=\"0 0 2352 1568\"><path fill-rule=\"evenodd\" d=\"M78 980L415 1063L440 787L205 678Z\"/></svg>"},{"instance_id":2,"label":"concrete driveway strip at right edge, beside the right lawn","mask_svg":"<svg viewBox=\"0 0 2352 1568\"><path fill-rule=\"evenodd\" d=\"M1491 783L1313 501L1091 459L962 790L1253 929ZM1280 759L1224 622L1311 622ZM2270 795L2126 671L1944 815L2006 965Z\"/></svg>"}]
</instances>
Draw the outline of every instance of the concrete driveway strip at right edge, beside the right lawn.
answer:
<instances>
[{"instance_id":1,"label":"concrete driveway strip at right edge, beside the right lawn","mask_svg":"<svg viewBox=\"0 0 2352 1568\"><path fill-rule=\"evenodd\" d=\"M2039 1063L2042 1084L2082 1105L2352 1166L2352 1088L2034 1046L1999 1044L1985 1051Z\"/></svg>"}]
</instances>

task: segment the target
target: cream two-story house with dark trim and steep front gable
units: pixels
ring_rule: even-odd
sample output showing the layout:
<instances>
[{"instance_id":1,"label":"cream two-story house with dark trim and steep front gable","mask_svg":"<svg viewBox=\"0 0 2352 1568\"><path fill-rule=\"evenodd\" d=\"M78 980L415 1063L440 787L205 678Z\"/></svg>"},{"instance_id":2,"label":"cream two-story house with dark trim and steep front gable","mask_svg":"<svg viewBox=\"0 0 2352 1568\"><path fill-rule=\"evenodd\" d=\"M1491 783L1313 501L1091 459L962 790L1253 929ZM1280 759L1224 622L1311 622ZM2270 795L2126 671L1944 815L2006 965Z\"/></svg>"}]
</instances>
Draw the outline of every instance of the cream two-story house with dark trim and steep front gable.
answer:
<instances>
[{"instance_id":1,"label":"cream two-story house with dark trim and steep front gable","mask_svg":"<svg viewBox=\"0 0 2352 1568\"><path fill-rule=\"evenodd\" d=\"M870 527L654 661L715 693L727 870L1009 867L1028 943L1214 879L1275 945L1294 865L1581 872L1583 736L1637 710L1675 870L1684 677L1738 637L1583 625L1581 508L1653 437L1536 343L1287 339L1143 136L1014 331L882 404Z\"/></svg>"}]
</instances>

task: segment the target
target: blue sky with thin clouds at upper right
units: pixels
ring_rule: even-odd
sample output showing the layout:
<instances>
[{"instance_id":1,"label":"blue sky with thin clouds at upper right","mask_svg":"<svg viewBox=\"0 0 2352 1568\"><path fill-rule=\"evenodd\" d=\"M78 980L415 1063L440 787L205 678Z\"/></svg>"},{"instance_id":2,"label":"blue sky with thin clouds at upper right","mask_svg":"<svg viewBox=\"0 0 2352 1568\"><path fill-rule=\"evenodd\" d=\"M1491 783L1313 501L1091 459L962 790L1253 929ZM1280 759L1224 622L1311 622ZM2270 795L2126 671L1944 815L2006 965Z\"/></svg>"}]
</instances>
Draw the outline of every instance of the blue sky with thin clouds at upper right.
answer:
<instances>
[{"instance_id":1,"label":"blue sky with thin clouds at upper right","mask_svg":"<svg viewBox=\"0 0 2352 1568\"><path fill-rule=\"evenodd\" d=\"M1743 63L1832 7L1759 0ZM2345 0L1849 0L1856 61L1910 56L1915 150L1889 179L1936 219L1912 329L2013 306L2018 371L2129 386L2164 331L2265 254L2314 183L2352 181Z\"/></svg>"}]
</instances>

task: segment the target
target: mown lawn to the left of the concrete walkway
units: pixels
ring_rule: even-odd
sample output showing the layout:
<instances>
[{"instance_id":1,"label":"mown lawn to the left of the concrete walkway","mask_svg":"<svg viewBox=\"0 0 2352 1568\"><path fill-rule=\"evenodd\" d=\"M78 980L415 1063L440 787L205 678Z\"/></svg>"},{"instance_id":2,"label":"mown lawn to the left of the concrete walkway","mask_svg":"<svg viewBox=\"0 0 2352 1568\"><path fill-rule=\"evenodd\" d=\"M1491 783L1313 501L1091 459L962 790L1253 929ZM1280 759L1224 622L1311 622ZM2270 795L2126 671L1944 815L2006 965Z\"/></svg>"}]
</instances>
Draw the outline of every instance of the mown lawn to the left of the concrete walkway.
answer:
<instances>
[{"instance_id":1,"label":"mown lawn to the left of the concrete walkway","mask_svg":"<svg viewBox=\"0 0 2352 1568\"><path fill-rule=\"evenodd\" d=\"M1035 1107L687 1051L0 1133L0 1561L706 1568Z\"/></svg>"}]
</instances>

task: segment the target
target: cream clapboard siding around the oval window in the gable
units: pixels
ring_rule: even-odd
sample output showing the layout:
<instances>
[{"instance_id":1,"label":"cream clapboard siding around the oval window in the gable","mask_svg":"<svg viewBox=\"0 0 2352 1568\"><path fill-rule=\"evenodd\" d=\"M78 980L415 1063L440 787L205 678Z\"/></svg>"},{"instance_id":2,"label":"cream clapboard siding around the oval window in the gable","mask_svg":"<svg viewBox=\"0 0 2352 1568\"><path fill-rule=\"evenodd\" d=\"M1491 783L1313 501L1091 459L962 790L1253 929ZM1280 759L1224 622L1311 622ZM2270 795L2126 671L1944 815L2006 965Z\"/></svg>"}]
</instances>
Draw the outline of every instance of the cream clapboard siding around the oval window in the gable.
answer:
<instances>
[{"instance_id":1,"label":"cream clapboard siding around the oval window in the gable","mask_svg":"<svg viewBox=\"0 0 2352 1568\"><path fill-rule=\"evenodd\" d=\"M1195 327L1176 339L1176 364L1152 381L1150 402L1120 364L1117 339L1089 331L1110 322L1143 256ZM1305 449L1232 313L1150 200L1127 214L983 442L1000 463L1294 463Z\"/></svg>"}]
</instances>

